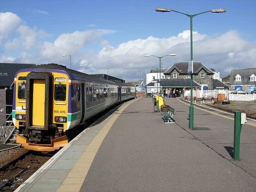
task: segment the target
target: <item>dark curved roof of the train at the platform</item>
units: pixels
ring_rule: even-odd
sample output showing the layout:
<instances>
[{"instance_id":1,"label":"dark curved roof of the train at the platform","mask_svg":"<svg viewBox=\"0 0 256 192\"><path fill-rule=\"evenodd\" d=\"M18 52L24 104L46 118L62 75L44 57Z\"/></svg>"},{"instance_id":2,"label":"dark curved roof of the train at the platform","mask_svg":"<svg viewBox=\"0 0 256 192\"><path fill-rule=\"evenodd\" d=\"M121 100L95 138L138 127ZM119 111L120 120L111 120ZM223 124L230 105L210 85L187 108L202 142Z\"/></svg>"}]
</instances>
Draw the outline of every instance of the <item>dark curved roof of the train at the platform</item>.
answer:
<instances>
[{"instance_id":1,"label":"dark curved roof of the train at the platform","mask_svg":"<svg viewBox=\"0 0 256 192\"><path fill-rule=\"evenodd\" d=\"M59 64L56 64L56 63L49 63L49 64L31 66L27 69L23 69L23 70L20 70L20 71L25 71L25 70L28 70L28 69L46 69L47 71L63 70L70 76L70 79L73 79L73 80L79 79L79 80L87 80L87 81L94 81L94 82L96 81L98 83L107 83L107 84L117 85L117 83L115 83L113 81L109 81L109 80L105 80L105 79L99 79L97 77L91 76L90 74L78 72L77 70L69 69L64 65L59 65Z\"/></svg>"}]
</instances>

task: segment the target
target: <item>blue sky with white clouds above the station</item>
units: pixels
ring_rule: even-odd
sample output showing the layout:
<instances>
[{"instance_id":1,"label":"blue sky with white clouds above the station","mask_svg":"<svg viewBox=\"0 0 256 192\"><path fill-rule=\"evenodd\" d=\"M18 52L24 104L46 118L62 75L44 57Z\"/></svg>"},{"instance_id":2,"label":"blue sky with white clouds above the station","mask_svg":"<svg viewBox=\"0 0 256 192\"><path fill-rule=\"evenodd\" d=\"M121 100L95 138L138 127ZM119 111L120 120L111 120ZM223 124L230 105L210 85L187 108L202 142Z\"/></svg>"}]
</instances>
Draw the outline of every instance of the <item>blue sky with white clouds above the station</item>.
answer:
<instances>
[{"instance_id":1,"label":"blue sky with white clouds above the station","mask_svg":"<svg viewBox=\"0 0 256 192\"><path fill-rule=\"evenodd\" d=\"M0 62L58 63L137 81L193 60L221 72L256 67L256 0L0 0ZM70 56L62 56L70 55ZM108 68L108 69L107 69ZM108 72L107 72L108 71Z\"/></svg>"}]
</instances>

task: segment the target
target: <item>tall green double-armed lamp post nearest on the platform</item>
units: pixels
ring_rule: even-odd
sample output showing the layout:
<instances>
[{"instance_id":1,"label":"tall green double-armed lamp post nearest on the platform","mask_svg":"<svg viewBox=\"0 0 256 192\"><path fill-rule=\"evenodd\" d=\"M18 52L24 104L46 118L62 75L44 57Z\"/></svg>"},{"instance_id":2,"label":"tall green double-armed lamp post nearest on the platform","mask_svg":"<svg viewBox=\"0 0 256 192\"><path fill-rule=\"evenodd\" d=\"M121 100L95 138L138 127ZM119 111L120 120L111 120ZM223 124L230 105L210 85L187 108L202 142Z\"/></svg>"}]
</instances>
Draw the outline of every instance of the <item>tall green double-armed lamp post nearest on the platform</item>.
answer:
<instances>
[{"instance_id":1,"label":"tall green double-armed lamp post nearest on the platform","mask_svg":"<svg viewBox=\"0 0 256 192\"><path fill-rule=\"evenodd\" d=\"M173 9L168 9L168 8L157 8L155 9L156 12L176 12L176 13L180 13L182 15L186 15L188 17L190 17L190 61L191 61L191 65L193 65L193 17L197 16L197 15L201 15L203 13L225 13L226 9L212 9L212 10L207 10L205 12L201 12L201 13L197 13L194 15L189 15L186 13L182 13L179 12L177 10L173 10ZM193 66L191 66L193 69ZM190 107L189 107L189 129L193 129L194 127L194 106L193 106L193 70L190 74L191 76L191 84L190 84Z\"/></svg>"}]
</instances>

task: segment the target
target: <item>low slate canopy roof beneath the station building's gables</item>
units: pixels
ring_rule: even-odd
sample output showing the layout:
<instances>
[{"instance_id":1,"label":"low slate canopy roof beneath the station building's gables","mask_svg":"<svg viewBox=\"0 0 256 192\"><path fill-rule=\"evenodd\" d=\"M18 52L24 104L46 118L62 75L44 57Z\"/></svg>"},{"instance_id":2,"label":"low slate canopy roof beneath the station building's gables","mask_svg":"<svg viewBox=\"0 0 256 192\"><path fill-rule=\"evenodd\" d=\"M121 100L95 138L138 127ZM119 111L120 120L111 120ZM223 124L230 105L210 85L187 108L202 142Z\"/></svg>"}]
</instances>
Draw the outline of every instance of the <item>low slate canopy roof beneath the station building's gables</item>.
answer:
<instances>
[{"instance_id":1,"label":"low slate canopy roof beneath the station building's gables","mask_svg":"<svg viewBox=\"0 0 256 192\"><path fill-rule=\"evenodd\" d=\"M159 82L159 81L158 81ZM171 88L178 88L178 87L186 87L190 88L191 86L191 81L190 79L161 79L161 87L171 87ZM145 87L154 87L154 83L148 83ZM201 86L195 81L193 81L193 87L198 87L200 88Z\"/></svg>"}]
</instances>

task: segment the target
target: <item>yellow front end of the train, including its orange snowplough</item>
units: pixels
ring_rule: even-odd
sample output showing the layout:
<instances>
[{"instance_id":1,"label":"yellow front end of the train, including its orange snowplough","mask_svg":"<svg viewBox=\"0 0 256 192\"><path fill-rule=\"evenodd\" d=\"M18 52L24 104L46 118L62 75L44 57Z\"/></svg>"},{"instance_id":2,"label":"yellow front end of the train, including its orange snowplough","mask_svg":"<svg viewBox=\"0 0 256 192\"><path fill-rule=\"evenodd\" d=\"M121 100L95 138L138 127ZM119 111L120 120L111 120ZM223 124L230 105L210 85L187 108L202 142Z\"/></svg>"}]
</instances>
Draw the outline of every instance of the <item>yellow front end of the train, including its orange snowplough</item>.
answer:
<instances>
[{"instance_id":1,"label":"yellow front end of the train, including its orange snowplough","mask_svg":"<svg viewBox=\"0 0 256 192\"><path fill-rule=\"evenodd\" d=\"M17 143L34 151L54 151L67 144L68 77L49 72L23 72L16 77Z\"/></svg>"}]
</instances>

